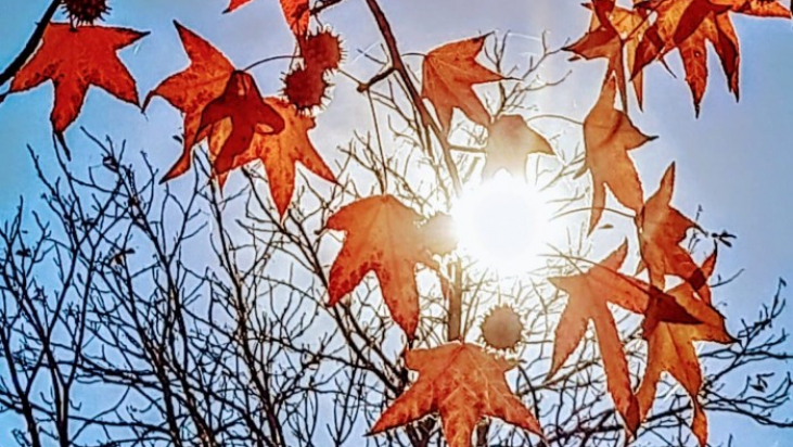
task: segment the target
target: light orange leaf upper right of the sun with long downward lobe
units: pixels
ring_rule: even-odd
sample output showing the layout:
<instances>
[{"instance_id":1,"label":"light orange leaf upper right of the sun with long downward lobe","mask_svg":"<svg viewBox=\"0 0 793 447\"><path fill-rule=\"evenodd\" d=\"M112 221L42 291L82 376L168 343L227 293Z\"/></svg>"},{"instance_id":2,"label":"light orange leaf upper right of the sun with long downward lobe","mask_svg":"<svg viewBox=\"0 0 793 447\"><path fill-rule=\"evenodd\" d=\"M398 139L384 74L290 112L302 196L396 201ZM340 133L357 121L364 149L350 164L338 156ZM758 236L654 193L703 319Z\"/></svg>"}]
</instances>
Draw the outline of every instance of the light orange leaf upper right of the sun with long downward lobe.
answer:
<instances>
[{"instance_id":1,"label":"light orange leaf upper right of the sun with long downward lobe","mask_svg":"<svg viewBox=\"0 0 793 447\"><path fill-rule=\"evenodd\" d=\"M642 133L625 112L614 107L615 98L615 80L610 78L603 85L594 107L584 119L584 167L592 173L590 233L603 214L606 186L619 203L639 212L643 192L628 151L655 139Z\"/></svg>"}]
</instances>

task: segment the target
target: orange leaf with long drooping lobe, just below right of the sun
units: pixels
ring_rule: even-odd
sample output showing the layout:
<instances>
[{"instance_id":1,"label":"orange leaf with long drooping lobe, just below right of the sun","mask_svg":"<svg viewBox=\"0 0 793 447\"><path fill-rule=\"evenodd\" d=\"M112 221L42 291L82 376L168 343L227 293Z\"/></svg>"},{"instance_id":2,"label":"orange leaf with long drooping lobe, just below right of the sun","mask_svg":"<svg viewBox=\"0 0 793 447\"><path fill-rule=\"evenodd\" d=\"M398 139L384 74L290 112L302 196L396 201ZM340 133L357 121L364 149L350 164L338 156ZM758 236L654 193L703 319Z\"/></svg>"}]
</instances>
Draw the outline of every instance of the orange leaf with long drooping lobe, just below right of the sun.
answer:
<instances>
[{"instance_id":1,"label":"orange leaf with long drooping lobe, just below right of the sun","mask_svg":"<svg viewBox=\"0 0 793 447\"><path fill-rule=\"evenodd\" d=\"M639 425L639 412L630 387L628 362L623 343L609 310L609 303L636 314L648 306L648 291L641 282L617 272L627 254L627 242L585 273L550 278L551 283L570 296L555 331L553 359L549 378L553 376L580 343L589 321L594 324L598 346L603 358L609 393L629 432Z\"/></svg>"}]
</instances>

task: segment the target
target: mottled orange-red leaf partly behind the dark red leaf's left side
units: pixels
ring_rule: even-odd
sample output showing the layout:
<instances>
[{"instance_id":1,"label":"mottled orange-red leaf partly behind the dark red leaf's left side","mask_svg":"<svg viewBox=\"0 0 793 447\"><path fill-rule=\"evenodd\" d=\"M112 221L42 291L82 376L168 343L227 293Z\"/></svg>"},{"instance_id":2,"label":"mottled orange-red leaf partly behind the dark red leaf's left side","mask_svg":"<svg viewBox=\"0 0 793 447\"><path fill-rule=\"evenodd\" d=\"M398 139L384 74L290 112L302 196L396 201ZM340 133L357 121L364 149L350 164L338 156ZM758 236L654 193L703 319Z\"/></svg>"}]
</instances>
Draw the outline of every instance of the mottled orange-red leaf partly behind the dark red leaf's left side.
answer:
<instances>
[{"instance_id":1,"label":"mottled orange-red leaf partly behind the dark red leaf's left side","mask_svg":"<svg viewBox=\"0 0 793 447\"><path fill-rule=\"evenodd\" d=\"M234 71L231 62L212 43L177 22L174 25L179 31L184 52L190 58L190 66L162 81L143 101L145 108L152 98L162 97L184 114L182 155L162 181L170 180L190 169L193 145L207 133L204 131L203 135L197 135L201 114L209 102L223 92Z\"/></svg>"}]
</instances>

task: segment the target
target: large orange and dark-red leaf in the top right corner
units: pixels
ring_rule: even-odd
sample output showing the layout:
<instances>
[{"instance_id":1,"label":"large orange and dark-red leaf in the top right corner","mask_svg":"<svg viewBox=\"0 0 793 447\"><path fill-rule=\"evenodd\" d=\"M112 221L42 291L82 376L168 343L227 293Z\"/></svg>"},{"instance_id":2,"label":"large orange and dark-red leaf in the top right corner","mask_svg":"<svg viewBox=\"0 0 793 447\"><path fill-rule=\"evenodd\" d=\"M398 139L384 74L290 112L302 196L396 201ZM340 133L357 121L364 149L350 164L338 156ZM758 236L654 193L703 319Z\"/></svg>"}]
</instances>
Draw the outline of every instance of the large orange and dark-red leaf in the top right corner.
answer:
<instances>
[{"instance_id":1,"label":"large orange and dark-red leaf in the top right corner","mask_svg":"<svg viewBox=\"0 0 793 447\"><path fill-rule=\"evenodd\" d=\"M691 89L694 111L707 86L707 48L711 42L727 76L727 87L739 98L740 49L729 12L790 18L790 11L776 0L648 0L639 9L652 10L657 20L640 42L632 73L678 49Z\"/></svg>"}]
</instances>

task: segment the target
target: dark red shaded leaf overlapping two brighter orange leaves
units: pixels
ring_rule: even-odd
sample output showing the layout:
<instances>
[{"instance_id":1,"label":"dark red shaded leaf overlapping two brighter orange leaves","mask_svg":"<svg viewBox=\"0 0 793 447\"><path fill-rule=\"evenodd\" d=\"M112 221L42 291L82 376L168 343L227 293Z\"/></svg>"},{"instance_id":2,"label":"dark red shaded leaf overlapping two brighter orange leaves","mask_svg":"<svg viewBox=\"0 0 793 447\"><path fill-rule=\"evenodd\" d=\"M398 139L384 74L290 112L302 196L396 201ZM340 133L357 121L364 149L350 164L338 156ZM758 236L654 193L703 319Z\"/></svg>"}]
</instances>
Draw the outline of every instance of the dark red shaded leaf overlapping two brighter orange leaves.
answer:
<instances>
[{"instance_id":1,"label":"dark red shaded leaf overlapping two brighter orange leaves","mask_svg":"<svg viewBox=\"0 0 793 447\"><path fill-rule=\"evenodd\" d=\"M234 158L251 148L257 132L278 133L285 126L281 115L261 99L253 76L239 71L231 74L220 97L204 107L196 138L209 126L225 119L230 122L231 131L213 158L216 175L226 174L236 166Z\"/></svg>"}]
</instances>

